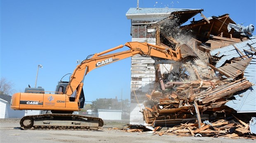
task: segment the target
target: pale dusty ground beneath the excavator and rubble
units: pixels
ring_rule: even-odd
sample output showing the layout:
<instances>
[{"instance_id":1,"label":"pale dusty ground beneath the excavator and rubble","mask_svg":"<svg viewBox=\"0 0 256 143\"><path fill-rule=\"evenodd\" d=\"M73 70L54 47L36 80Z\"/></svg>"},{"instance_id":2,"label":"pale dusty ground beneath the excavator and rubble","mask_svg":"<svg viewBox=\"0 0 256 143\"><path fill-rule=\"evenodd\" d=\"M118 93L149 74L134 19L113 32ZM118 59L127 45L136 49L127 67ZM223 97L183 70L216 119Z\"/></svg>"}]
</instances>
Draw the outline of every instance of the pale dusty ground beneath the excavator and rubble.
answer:
<instances>
[{"instance_id":1,"label":"pale dusty ground beneath the excavator and rubble","mask_svg":"<svg viewBox=\"0 0 256 143\"><path fill-rule=\"evenodd\" d=\"M126 121L104 121L102 131L21 130L19 119L0 119L0 143L255 143L251 139L213 138L126 132Z\"/></svg>"}]
</instances>

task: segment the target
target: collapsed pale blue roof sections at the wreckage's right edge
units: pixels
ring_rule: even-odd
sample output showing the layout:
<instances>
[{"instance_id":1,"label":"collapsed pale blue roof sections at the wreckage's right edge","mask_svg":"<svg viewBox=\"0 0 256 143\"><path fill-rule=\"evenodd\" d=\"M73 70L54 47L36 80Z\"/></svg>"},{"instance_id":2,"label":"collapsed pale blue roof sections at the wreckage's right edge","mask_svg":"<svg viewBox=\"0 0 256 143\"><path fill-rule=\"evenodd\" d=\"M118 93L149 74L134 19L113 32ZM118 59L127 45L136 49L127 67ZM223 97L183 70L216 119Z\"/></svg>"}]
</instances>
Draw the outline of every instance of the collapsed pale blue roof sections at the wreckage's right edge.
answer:
<instances>
[{"instance_id":1,"label":"collapsed pale blue roof sections at the wreckage's right edge","mask_svg":"<svg viewBox=\"0 0 256 143\"><path fill-rule=\"evenodd\" d=\"M249 47L248 44L251 45L252 48L256 49L256 37L253 36L247 41L234 45L244 55L249 56L249 53L244 51L251 51L251 47ZM219 54L216 52L219 52ZM216 67L221 67L226 60L242 56L232 45L212 50L210 53L211 55L221 57L221 59L216 63ZM254 85L247 90L238 92L237 95L234 95L235 99L230 100L225 104L226 106L235 109L237 113L256 112L256 55L249 56L249 58L251 58L251 62L244 70L244 77Z\"/></svg>"}]
</instances>

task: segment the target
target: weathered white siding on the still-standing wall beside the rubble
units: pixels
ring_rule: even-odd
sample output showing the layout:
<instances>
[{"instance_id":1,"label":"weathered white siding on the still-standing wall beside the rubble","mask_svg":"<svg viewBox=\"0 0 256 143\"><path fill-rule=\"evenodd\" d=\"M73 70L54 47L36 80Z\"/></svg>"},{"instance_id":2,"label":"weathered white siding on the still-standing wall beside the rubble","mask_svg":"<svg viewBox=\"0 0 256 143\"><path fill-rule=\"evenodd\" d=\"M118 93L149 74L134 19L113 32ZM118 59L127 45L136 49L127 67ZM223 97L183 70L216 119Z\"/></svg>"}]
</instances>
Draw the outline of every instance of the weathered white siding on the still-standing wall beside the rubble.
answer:
<instances>
[{"instance_id":1,"label":"weathered white siding on the still-standing wall beside the rubble","mask_svg":"<svg viewBox=\"0 0 256 143\"><path fill-rule=\"evenodd\" d=\"M155 38L132 38L132 42L148 42L155 44ZM144 108L142 100L140 106L136 100L132 99L133 91L137 93L137 97L145 97L146 93L151 93L155 82L155 67L151 57L136 55L131 58L131 105L130 105L130 124L144 124L143 115L140 112L140 107ZM140 78L140 79L136 79Z\"/></svg>"}]
</instances>

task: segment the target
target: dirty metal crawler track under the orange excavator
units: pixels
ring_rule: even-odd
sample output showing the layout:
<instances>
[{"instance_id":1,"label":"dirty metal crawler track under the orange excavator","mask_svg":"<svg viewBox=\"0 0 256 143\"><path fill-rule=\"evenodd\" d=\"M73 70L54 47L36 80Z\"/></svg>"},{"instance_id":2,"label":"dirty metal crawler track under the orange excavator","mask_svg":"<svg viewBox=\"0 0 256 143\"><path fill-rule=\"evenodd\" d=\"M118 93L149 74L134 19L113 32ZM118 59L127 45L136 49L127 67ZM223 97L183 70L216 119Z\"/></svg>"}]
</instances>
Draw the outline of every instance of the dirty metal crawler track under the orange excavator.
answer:
<instances>
[{"instance_id":1,"label":"dirty metal crawler track under the orange excavator","mask_svg":"<svg viewBox=\"0 0 256 143\"><path fill-rule=\"evenodd\" d=\"M104 122L101 118L76 114L41 114L24 116L20 125L21 129L100 131Z\"/></svg>"}]
</instances>

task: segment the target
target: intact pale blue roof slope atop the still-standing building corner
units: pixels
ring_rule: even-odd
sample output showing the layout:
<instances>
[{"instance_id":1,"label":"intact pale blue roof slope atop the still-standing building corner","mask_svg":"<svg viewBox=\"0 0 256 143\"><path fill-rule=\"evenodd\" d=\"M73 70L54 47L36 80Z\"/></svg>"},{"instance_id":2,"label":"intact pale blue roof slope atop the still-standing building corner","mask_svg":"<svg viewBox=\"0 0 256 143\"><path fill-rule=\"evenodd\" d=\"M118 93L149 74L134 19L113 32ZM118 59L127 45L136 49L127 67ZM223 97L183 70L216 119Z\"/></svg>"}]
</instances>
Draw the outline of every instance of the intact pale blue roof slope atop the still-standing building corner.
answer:
<instances>
[{"instance_id":1,"label":"intact pale blue roof slope atop the still-standing building corner","mask_svg":"<svg viewBox=\"0 0 256 143\"><path fill-rule=\"evenodd\" d=\"M179 11L190 11L190 10L201 10L201 9L173 9L173 8L130 8L126 15L129 14L168 14L172 12L179 12Z\"/></svg>"}]
</instances>

